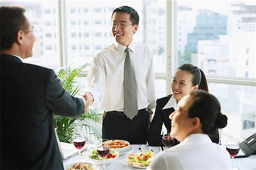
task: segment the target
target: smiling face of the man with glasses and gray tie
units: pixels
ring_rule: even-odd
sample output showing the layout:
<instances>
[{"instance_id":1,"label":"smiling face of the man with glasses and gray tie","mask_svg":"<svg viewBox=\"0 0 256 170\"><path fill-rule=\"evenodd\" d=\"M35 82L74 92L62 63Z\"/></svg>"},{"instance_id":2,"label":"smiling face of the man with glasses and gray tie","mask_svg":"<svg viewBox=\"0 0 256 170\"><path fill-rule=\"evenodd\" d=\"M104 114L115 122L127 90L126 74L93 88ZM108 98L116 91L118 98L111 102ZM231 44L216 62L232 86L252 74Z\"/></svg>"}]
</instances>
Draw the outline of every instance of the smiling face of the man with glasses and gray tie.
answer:
<instances>
[{"instance_id":1,"label":"smiling face of the man with glasses and gray tie","mask_svg":"<svg viewBox=\"0 0 256 170\"><path fill-rule=\"evenodd\" d=\"M113 27L112 34L118 43L127 47L133 40L133 34L138 30L138 24L132 25L130 14L118 12L113 14L112 23L117 23L117 25L119 23L126 24L126 26L122 28L120 28L119 25Z\"/></svg>"}]
</instances>

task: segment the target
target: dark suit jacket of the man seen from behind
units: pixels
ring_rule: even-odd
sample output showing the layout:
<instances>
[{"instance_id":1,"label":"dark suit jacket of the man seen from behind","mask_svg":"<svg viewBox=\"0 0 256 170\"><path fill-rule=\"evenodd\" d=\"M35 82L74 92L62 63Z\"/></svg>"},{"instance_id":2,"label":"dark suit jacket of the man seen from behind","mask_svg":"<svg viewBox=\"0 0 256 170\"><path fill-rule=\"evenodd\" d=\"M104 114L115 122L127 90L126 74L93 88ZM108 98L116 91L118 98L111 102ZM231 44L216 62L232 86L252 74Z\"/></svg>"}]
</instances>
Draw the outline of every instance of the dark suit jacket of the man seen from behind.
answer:
<instances>
[{"instance_id":1,"label":"dark suit jacket of the man seen from behind","mask_svg":"<svg viewBox=\"0 0 256 170\"><path fill-rule=\"evenodd\" d=\"M77 117L84 102L63 89L52 69L4 54L0 61L0 168L63 169L52 112Z\"/></svg>"}]
</instances>

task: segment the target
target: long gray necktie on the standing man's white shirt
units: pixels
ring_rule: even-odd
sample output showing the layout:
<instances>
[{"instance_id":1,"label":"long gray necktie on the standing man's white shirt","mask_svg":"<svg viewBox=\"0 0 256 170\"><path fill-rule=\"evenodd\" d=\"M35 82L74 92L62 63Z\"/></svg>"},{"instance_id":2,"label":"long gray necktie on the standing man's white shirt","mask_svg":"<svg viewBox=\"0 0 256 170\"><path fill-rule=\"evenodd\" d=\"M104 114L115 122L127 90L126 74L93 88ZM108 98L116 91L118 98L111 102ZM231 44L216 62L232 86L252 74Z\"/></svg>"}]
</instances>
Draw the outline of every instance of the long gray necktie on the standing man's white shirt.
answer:
<instances>
[{"instance_id":1,"label":"long gray necktie on the standing man's white shirt","mask_svg":"<svg viewBox=\"0 0 256 170\"><path fill-rule=\"evenodd\" d=\"M129 48L125 49L125 70L123 89L125 95L124 113L129 119L133 119L138 113L137 82L133 61L130 58Z\"/></svg>"}]
</instances>

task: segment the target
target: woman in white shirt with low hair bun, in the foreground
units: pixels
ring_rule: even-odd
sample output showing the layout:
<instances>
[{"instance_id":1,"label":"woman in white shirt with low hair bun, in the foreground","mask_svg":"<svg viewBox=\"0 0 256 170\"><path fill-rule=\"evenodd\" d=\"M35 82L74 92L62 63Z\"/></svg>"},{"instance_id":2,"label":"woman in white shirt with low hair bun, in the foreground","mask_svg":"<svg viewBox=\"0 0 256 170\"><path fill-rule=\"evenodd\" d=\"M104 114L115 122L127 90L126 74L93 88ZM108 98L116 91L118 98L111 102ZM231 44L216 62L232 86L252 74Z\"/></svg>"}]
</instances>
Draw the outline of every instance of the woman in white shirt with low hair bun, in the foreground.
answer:
<instances>
[{"instance_id":1,"label":"woman in white shirt with low hair bun, in the foreground","mask_svg":"<svg viewBox=\"0 0 256 170\"><path fill-rule=\"evenodd\" d=\"M170 114L171 135L180 144L156 155L147 169L229 169L225 147L212 143L209 136L226 126L217 98L203 90L192 91Z\"/></svg>"}]
</instances>

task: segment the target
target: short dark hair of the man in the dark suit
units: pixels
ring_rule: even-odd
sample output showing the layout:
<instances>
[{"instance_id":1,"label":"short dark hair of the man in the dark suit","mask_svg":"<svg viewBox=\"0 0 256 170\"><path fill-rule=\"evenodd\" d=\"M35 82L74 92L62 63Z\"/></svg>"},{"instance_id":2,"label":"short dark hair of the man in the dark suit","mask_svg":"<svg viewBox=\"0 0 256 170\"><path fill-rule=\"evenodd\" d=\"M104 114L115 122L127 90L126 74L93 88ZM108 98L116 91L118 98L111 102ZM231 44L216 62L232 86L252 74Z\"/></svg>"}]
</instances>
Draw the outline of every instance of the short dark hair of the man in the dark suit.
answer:
<instances>
[{"instance_id":1,"label":"short dark hair of the man in the dark suit","mask_svg":"<svg viewBox=\"0 0 256 170\"><path fill-rule=\"evenodd\" d=\"M16 40L16 33L19 30L27 30L28 22L24 15L25 11L25 9L18 6L0 7L0 50L13 47L13 43Z\"/></svg>"}]
</instances>

